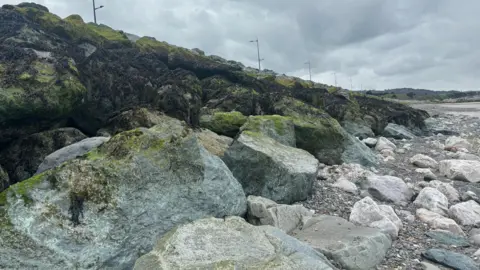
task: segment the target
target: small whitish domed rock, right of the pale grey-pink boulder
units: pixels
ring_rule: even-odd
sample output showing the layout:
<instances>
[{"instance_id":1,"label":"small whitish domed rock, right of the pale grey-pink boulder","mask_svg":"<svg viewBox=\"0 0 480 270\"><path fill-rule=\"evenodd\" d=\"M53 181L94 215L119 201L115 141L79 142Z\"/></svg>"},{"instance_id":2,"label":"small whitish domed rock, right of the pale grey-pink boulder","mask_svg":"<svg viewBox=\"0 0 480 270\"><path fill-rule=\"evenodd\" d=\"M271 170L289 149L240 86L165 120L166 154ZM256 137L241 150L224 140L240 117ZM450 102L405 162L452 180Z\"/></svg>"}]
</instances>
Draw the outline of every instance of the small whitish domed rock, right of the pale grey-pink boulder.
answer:
<instances>
[{"instance_id":1,"label":"small whitish domed rock, right of the pale grey-pink boulder","mask_svg":"<svg viewBox=\"0 0 480 270\"><path fill-rule=\"evenodd\" d=\"M436 188L426 187L422 189L413 204L442 216L448 215L448 199Z\"/></svg>"}]
</instances>

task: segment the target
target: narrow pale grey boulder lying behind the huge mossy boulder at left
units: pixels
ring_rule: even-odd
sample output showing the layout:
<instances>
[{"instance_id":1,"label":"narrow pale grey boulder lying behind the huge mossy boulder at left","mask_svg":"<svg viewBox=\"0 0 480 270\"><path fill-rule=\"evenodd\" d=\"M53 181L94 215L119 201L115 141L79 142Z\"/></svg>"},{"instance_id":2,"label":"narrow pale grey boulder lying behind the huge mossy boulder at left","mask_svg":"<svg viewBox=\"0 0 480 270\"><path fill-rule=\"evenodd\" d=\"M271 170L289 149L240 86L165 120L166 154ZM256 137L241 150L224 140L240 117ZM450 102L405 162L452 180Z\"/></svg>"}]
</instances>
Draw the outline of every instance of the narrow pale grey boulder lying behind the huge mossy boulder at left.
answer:
<instances>
[{"instance_id":1,"label":"narrow pale grey boulder lying behind the huge mossy boulder at left","mask_svg":"<svg viewBox=\"0 0 480 270\"><path fill-rule=\"evenodd\" d=\"M38 166L37 172L35 174L50 170L59 166L65 161L82 156L93 148L96 148L107 142L109 139L109 137L87 138L64 148L61 148L45 157L40 166Z\"/></svg>"}]
</instances>

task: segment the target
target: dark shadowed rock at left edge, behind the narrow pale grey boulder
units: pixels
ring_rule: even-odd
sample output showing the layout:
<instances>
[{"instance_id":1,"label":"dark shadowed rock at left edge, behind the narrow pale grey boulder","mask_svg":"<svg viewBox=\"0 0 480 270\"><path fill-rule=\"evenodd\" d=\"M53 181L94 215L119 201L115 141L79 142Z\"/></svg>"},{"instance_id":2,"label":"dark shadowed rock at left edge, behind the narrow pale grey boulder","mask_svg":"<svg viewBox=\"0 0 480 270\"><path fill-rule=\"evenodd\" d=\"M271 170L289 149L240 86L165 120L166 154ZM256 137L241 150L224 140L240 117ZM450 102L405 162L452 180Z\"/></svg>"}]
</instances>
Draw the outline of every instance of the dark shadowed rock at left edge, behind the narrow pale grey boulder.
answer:
<instances>
[{"instance_id":1,"label":"dark shadowed rock at left edge, behind the narrow pale grey boulder","mask_svg":"<svg viewBox=\"0 0 480 270\"><path fill-rule=\"evenodd\" d=\"M74 128L35 133L14 141L2 150L0 164L8 172L10 184L14 184L34 175L47 155L85 138L82 132Z\"/></svg>"}]
</instances>

